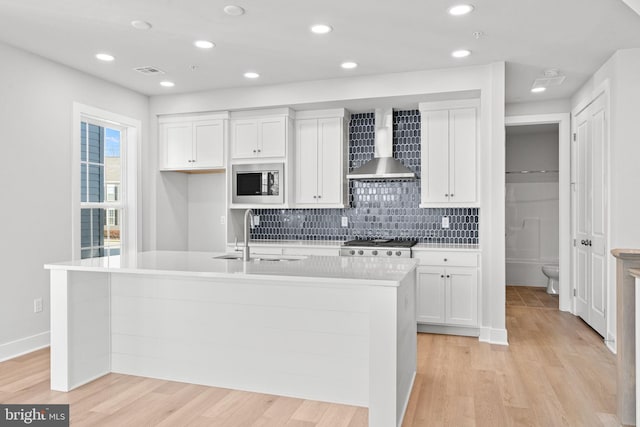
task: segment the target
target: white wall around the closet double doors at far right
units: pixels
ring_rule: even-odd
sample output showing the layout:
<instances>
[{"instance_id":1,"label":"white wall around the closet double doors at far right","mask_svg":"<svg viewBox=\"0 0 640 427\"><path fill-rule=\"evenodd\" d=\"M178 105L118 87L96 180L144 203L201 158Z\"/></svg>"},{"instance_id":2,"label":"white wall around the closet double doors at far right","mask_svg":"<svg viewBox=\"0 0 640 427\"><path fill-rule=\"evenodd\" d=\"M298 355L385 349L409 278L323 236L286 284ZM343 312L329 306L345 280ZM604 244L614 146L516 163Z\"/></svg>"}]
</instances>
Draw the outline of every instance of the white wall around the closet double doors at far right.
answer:
<instances>
[{"instance_id":1,"label":"white wall around the closet double doors at far right","mask_svg":"<svg viewBox=\"0 0 640 427\"><path fill-rule=\"evenodd\" d=\"M617 51L573 96L573 111L593 97L605 82L610 87L608 250L640 248L640 49ZM616 337L615 259L609 257L607 339ZM609 344L613 347L612 344Z\"/></svg>"}]
</instances>

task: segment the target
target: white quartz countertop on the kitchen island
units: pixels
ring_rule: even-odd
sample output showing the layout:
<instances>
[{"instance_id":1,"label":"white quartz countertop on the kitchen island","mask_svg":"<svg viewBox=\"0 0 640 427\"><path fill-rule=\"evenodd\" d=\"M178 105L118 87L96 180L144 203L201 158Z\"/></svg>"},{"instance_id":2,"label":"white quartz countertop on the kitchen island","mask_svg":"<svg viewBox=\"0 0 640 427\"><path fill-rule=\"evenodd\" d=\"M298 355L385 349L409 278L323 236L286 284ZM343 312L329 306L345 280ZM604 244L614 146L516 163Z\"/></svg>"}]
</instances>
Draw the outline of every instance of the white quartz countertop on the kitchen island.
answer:
<instances>
[{"instance_id":1,"label":"white quartz countertop on the kitchen island","mask_svg":"<svg viewBox=\"0 0 640 427\"><path fill-rule=\"evenodd\" d=\"M94 271L126 274L203 278L265 278L281 281L313 279L317 282L397 286L412 274L413 259L310 256L295 261L216 259L222 253L152 251L130 257L103 257L45 265L49 270ZM302 280L301 280L302 279ZM310 281L310 280L309 280Z\"/></svg>"}]
</instances>

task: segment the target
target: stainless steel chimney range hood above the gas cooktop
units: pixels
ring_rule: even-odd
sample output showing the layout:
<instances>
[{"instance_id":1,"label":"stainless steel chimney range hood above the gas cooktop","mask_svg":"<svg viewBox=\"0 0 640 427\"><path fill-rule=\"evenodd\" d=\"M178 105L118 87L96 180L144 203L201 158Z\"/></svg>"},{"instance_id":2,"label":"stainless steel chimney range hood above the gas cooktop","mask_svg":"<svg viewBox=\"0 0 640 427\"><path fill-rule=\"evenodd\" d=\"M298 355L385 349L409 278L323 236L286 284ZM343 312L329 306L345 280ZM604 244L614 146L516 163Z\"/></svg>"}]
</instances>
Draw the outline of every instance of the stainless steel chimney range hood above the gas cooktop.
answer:
<instances>
[{"instance_id":1,"label":"stainless steel chimney range hood above the gas cooktop","mask_svg":"<svg viewBox=\"0 0 640 427\"><path fill-rule=\"evenodd\" d=\"M416 179L416 174L393 158L393 110L375 110L374 158L347 174L348 179Z\"/></svg>"}]
</instances>

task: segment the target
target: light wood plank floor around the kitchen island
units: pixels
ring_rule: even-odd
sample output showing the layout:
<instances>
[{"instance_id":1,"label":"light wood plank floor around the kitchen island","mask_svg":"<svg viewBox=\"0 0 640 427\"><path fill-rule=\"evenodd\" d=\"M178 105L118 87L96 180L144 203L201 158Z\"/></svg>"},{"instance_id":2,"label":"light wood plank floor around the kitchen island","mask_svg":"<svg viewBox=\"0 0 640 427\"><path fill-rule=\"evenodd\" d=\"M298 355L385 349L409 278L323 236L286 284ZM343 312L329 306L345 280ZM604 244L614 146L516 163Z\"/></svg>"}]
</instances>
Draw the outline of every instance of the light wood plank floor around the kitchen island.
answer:
<instances>
[{"instance_id":1,"label":"light wood plank floor around the kitchen island","mask_svg":"<svg viewBox=\"0 0 640 427\"><path fill-rule=\"evenodd\" d=\"M581 320L507 307L510 346L419 334L403 427L617 426L615 358ZM49 351L0 363L0 402L70 403L73 426L360 427L367 410L110 374L49 390Z\"/></svg>"}]
</instances>

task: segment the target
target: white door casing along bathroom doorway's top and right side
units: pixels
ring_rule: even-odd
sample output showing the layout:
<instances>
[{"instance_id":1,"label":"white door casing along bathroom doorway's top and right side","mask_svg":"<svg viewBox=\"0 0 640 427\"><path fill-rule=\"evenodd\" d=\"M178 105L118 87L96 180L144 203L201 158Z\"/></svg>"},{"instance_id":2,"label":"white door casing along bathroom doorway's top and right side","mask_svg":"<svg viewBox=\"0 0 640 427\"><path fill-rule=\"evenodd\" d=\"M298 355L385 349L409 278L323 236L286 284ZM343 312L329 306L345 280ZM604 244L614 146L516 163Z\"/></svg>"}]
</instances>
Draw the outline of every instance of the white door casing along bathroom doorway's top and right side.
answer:
<instances>
[{"instance_id":1,"label":"white door casing along bathroom doorway's top and right side","mask_svg":"<svg viewBox=\"0 0 640 427\"><path fill-rule=\"evenodd\" d=\"M560 284L559 309L575 314L573 296L571 295L571 245L573 234L571 232L571 115L569 113L558 114L534 114L522 116L508 116L504 119L506 126L525 125L558 125L558 186L559 186L559 266ZM505 140L506 146L506 140ZM506 186L506 175L505 175Z\"/></svg>"}]
</instances>

